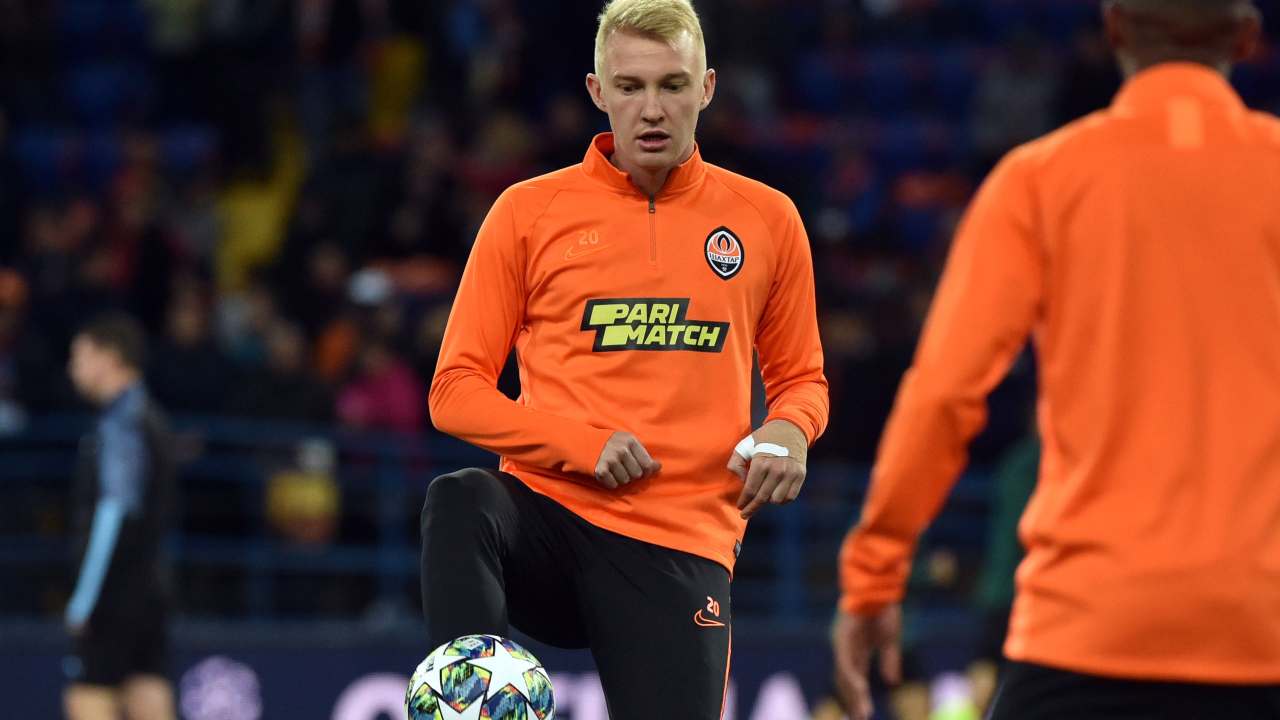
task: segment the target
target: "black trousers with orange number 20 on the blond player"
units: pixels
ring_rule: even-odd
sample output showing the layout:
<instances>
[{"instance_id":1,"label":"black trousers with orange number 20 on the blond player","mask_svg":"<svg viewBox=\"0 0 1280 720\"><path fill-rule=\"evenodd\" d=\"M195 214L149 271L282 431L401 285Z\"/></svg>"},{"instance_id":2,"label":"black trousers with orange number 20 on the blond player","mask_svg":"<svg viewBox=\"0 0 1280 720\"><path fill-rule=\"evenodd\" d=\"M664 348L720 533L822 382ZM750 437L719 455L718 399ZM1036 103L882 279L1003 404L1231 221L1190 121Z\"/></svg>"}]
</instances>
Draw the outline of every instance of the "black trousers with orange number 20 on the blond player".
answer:
<instances>
[{"instance_id":1,"label":"black trousers with orange number 20 on the blond player","mask_svg":"<svg viewBox=\"0 0 1280 720\"><path fill-rule=\"evenodd\" d=\"M730 662L719 564L612 533L495 470L436 478L422 507L428 643L515 625L590 648L612 720L714 720Z\"/></svg>"}]
</instances>

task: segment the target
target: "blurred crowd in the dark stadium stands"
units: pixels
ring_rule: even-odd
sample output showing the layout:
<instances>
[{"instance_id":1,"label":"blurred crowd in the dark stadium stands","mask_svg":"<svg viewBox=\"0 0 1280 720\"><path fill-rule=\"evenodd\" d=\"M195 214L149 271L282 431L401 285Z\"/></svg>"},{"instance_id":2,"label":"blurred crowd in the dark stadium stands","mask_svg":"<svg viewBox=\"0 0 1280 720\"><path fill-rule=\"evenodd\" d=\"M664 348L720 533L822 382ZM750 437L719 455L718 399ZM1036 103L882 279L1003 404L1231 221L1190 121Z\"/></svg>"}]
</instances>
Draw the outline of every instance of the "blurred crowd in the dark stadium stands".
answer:
<instances>
[{"instance_id":1,"label":"blurred crowd in the dark stadium stands","mask_svg":"<svg viewBox=\"0 0 1280 720\"><path fill-rule=\"evenodd\" d=\"M452 293L497 195L580 161L607 129L582 88L599 5L0 0L0 443L67 442L56 428L70 425L45 421L86 410L65 379L68 341L93 311L128 310L150 333L150 389L189 419L179 425L202 428L187 457L256 462L252 491L188 478L186 528L274 528L301 544L396 536L407 555L390 561L410 566L384 584L412 615L417 503L448 456L424 448L440 442L425 402ZM1092 0L696 6L719 72L703 155L788 193L813 242L833 410L810 500L832 514L827 536L790 551L813 557L787 582L826 588L823 602L785 615L820 621L856 503L844 486L864 482L960 213L1005 151L1106 106L1120 79ZM1274 45L1235 82L1253 108L1280 111ZM1034 475L1033 391L1027 360L974 454L979 469L1007 460L1018 487ZM237 418L256 424L225 424ZM279 428L303 429L270 439ZM384 457L401 475L370 483L410 491L362 498L355 478ZM957 525L978 555L1000 521L991 474ZM6 532L61 532L56 471L44 477L4 486ZM762 523L755 544L771 560L744 556L748 583L777 582L788 551L767 548L786 532ZM334 589L332 574L306 571L276 578L293 592L273 594L232 565L191 570L184 607L358 615L381 597L383 580ZM955 565L927 556L923 573L943 582ZM65 579L13 577L35 585L0 592L0 612L60 611Z\"/></svg>"}]
</instances>

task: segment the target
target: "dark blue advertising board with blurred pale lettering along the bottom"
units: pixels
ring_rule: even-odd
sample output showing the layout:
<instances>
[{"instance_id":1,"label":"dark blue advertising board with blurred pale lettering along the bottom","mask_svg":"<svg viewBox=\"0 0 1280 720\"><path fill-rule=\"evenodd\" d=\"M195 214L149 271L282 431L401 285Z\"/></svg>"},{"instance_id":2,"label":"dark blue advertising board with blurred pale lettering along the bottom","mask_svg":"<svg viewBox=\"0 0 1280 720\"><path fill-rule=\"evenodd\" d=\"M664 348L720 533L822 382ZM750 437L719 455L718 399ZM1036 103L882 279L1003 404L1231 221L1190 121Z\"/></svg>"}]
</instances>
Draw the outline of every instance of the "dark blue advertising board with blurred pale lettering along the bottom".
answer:
<instances>
[{"instance_id":1,"label":"dark blue advertising board with blurred pale lettering along the bottom","mask_svg":"<svg viewBox=\"0 0 1280 720\"><path fill-rule=\"evenodd\" d=\"M346 630L335 630L351 634ZM49 637L49 632L40 633ZM174 655L183 720L403 719L408 675L428 648L343 638L323 628L275 642L218 642L216 630L187 632ZM244 633L233 633L243 635ZM278 634L278 633L276 633ZM5 639L0 693L5 717L59 717L65 643ZM530 643L556 685L557 720L607 720L590 656ZM808 720L828 689L822 633L737 629L726 720ZM637 682L646 682L637 678ZM653 691L662 692L655 683ZM672 708L671 717L680 717Z\"/></svg>"}]
</instances>

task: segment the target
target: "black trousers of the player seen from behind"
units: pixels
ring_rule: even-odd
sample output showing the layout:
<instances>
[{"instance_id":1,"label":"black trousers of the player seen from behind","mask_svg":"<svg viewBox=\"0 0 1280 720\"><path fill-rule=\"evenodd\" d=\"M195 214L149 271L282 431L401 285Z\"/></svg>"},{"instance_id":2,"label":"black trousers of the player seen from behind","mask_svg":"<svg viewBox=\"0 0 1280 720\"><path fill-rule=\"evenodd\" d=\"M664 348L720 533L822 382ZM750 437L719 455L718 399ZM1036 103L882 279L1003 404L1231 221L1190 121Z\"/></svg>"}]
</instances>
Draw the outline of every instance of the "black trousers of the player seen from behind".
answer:
<instances>
[{"instance_id":1,"label":"black trousers of the player seen from behind","mask_svg":"<svg viewBox=\"0 0 1280 720\"><path fill-rule=\"evenodd\" d=\"M1280 685L1121 680L1010 661L989 720L1280 720Z\"/></svg>"}]
</instances>

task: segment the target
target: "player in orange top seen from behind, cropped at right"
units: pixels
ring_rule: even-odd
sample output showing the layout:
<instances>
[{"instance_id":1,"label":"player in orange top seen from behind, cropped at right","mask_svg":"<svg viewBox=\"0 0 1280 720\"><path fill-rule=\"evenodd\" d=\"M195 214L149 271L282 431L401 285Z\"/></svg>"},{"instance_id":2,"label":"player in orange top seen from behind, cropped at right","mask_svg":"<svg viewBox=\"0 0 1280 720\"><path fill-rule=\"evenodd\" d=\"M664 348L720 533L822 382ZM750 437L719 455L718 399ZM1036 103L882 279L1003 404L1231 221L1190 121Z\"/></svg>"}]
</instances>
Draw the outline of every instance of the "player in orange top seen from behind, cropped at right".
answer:
<instances>
[{"instance_id":1,"label":"player in orange top seen from behind, cropped at right","mask_svg":"<svg viewBox=\"0 0 1280 720\"><path fill-rule=\"evenodd\" d=\"M1105 5L1126 83L1014 150L951 250L841 552L837 685L899 674L913 547L1034 340L1039 480L996 720L1280 717L1280 120L1249 0Z\"/></svg>"}]
</instances>

